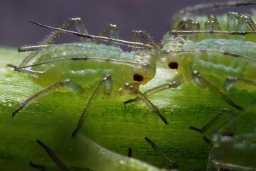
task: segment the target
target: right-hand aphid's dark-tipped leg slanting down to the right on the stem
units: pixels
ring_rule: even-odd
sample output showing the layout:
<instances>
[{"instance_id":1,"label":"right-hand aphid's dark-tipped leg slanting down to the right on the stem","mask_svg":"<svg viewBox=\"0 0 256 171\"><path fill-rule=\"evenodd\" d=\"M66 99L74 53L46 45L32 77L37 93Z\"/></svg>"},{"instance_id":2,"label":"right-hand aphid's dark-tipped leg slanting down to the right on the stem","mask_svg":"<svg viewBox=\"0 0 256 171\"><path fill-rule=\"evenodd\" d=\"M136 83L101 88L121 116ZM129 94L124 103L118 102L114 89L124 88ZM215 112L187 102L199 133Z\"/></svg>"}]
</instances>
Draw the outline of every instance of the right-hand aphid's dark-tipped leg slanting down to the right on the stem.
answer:
<instances>
[{"instance_id":1,"label":"right-hand aphid's dark-tipped leg slanting down to the right on the stem","mask_svg":"<svg viewBox=\"0 0 256 171\"><path fill-rule=\"evenodd\" d=\"M192 72L192 77L195 83L197 83L200 88L206 89L209 88L212 92L217 94L220 98L222 98L227 104L230 106L235 107L238 110L244 110L243 107L238 106L235 102L233 102L230 98L228 98L225 94L223 94L221 91L219 91L218 88L213 86L211 83L209 83L201 74L200 72L194 71Z\"/></svg>"}]
</instances>

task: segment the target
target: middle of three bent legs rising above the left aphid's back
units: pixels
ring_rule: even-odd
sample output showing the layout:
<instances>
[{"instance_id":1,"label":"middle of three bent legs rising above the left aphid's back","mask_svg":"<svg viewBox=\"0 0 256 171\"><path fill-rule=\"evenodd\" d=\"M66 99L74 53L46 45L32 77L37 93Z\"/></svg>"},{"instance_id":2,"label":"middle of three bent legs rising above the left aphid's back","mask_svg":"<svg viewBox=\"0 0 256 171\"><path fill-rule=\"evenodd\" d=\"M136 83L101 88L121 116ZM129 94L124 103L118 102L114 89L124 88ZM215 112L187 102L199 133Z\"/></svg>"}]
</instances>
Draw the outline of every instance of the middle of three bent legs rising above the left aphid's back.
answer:
<instances>
[{"instance_id":1,"label":"middle of three bent legs rising above the left aphid's back","mask_svg":"<svg viewBox=\"0 0 256 171\"><path fill-rule=\"evenodd\" d=\"M99 37L110 37L113 39L118 39L119 38L119 28L116 25L113 24L108 24L103 31L99 34ZM100 39L97 39L94 41L94 43L99 44ZM115 42L110 42L110 45L117 45Z\"/></svg>"}]
</instances>

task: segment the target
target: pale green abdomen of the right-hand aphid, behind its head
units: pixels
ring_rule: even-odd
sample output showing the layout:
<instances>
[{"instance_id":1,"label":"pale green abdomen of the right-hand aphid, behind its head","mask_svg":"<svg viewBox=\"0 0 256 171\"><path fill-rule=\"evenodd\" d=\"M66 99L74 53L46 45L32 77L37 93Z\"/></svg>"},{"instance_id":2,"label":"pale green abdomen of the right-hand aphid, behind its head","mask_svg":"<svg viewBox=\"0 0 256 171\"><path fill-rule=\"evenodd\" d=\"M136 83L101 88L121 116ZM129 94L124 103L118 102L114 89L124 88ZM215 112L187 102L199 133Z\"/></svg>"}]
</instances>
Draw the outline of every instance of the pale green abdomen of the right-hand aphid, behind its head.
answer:
<instances>
[{"instance_id":1,"label":"pale green abdomen of the right-hand aphid, behind its head","mask_svg":"<svg viewBox=\"0 0 256 171\"><path fill-rule=\"evenodd\" d=\"M199 52L195 52L195 61L189 63L191 66L187 67L192 69L192 71L197 70L203 75L214 75L214 77L222 81L227 77L256 80L254 74L256 71L256 44L254 42L245 42L238 39L205 39L199 42L197 47L195 47L195 42L185 42L185 50L191 50L191 47L194 47L195 50L199 50ZM217 50L221 53L202 53L200 50L202 52L203 50ZM248 56L249 58L227 56L225 53ZM192 55L186 58L193 59ZM186 60L190 59L185 59L185 61ZM185 68L186 65L182 67Z\"/></svg>"}]
</instances>

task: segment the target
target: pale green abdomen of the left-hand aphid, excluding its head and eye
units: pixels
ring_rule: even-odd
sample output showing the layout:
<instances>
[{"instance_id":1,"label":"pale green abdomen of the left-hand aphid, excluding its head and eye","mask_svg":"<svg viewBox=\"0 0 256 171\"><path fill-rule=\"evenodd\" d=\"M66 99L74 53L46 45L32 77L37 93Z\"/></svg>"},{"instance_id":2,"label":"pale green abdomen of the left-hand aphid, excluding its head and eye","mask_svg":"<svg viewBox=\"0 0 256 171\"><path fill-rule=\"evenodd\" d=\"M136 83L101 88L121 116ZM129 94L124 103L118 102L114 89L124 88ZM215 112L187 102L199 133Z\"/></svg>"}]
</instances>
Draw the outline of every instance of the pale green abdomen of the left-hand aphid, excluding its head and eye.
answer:
<instances>
[{"instance_id":1,"label":"pale green abdomen of the left-hand aphid, excluding its head and eye","mask_svg":"<svg viewBox=\"0 0 256 171\"><path fill-rule=\"evenodd\" d=\"M115 76L120 75L124 77L121 70L129 70L132 72L132 67L127 66L121 69L121 65L110 64L107 62L108 58L116 58L121 60L121 54L124 53L118 47L107 47L105 45L96 45L91 43L72 43L62 45L48 45L48 47L39 53L39 58L35 64L50 61L59 58L70 57L89 57L89 58L105 58L106 62L99 61L58 61L51 64L43 64L33 66L32 70L43 72L41 77L32 77L42 87L48 87L53 83L61 80L69 79L80 86L91 86L95 81L101 80L105 75L111 75L114 79ZM126 61L133 60L132 53L126 53ZM116 72L118 70L118 72ZM127 78L128 79L128 78ZM129 81L129 80L127 80Z\"/></svg>"}]
</instances>

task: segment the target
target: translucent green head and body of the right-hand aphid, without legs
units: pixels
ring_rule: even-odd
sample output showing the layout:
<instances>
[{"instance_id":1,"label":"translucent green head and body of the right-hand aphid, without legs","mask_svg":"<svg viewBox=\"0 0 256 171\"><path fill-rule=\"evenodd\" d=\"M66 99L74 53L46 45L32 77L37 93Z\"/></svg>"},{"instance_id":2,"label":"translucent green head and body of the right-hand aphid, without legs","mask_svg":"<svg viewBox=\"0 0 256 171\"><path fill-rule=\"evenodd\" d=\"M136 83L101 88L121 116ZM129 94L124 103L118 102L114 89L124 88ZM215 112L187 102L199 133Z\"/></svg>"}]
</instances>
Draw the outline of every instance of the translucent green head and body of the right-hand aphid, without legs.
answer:
<instances>
[{"instance_id":1,"label":"translucent green head and body of the right-hand aphid, without legs","mask_svg":"<svg viewBox=\"0 0 256 171\"><path fill-rule=\"evenodd\" d=\"M204 39L201 42L192 42L178 38L180 45L175 50L197 50L193 53L179 54L172 52L175 39L165 37L161 59L165 64L175 62L178 73L184 76L184 81L192 80L192 72L198 71L210 83L219 89L227 77L238 77L245 80L256 80L256 43L238 39ZM203 50L215 50L204 53ZM166 53L167 51L167 53ZM246 56L229 56L225 53ZM220 86L219 86L220 85ZM252 90L252 86L236 86L236 88Z\"/></svg>"}]
</instances>

